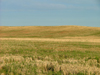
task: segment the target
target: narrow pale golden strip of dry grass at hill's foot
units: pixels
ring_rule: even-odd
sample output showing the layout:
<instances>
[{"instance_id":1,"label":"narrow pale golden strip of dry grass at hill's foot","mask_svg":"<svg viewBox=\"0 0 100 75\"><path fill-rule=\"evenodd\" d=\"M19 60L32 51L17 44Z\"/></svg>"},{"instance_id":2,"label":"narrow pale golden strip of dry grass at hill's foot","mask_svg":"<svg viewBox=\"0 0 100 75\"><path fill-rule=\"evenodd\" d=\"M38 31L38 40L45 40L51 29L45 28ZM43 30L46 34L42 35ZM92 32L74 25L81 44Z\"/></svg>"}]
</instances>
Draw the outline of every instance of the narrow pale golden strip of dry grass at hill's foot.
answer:
<instances>
[{"instance_id":1,"label":"narrow pale golden strip of dry grass at hill's foot","mask_svg":"<svg viewBox=\"0 0 100 75\"><path fill-rule=\"evenodd\" d=\"M100 42L99 38L66 37L63 39L52 38L0 38L0 40L31 40L31 41L54 41L54 42Z\"/></svg>"}]
</instances>

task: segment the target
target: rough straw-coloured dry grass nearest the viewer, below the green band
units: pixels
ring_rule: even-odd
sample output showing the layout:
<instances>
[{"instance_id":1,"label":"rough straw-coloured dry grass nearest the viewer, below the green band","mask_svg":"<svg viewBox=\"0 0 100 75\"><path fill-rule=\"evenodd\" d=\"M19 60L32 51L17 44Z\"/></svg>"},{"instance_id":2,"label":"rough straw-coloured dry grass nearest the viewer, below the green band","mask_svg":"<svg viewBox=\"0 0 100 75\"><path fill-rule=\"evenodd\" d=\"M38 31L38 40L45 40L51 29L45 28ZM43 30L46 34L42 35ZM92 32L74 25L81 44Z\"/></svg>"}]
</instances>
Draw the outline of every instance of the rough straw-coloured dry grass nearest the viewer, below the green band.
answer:
<instances>
[{"instance_id":1,"label":"rough straw-coloured dry grass nearest the viewer, below the green band","mask_svg":"<svg viewBox=\"0 0 100 75\"><path fill-rule=\"evenodd\" d=\"M47 57L45 57L43 60L39 60L36 57L33 59L31 57L23 58L21 56L7 55L0 57L0 59L0 70L4 69L5 66L16 67L15 64L20 67L11 69L12 72L9 72L9 75L11 73L14 75L14 70L18 71L16 74L24 75L27 73L30 75L31 72L27 71L28 69L32 69L28 68L28 65L31 65L31 67L37 67L37 75L42 75L42 73L44 73L43 75L46 75L49 71L54 71L55 73L61 71L62 75L77 75L79 73L83 73L84 75L100 75L100 68L97 67L98 62L95 59L90 59L88 61L85 61L85 59L63 59L61 64L59 64L58 61L50 60L50 58L48 58L48 61ZM1 74L5 75L3 72ZM32 74L34 74L34 72Z\"/></svg>"}]
</instances>

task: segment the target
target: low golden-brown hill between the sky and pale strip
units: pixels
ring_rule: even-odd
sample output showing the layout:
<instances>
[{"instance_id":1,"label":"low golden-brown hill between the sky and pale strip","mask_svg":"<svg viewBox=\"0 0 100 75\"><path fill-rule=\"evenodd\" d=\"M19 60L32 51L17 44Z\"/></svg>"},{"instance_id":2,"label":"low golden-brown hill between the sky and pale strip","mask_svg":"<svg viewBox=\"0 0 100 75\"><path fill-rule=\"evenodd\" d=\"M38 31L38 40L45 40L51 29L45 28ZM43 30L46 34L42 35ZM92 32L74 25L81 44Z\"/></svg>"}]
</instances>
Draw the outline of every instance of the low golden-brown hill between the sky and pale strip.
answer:
<instances>
[{"instance_id":1,"label":"low golden-brown hill between the sky and pale strip","mask_svg":"<svg viewBox=\"0 0 100 75\"><path fill-rule=\"evenodd\" d=\"M62 38L100 37L99 27L85 26L0 26L0 37Z\"/></svg>"}]
</instances>

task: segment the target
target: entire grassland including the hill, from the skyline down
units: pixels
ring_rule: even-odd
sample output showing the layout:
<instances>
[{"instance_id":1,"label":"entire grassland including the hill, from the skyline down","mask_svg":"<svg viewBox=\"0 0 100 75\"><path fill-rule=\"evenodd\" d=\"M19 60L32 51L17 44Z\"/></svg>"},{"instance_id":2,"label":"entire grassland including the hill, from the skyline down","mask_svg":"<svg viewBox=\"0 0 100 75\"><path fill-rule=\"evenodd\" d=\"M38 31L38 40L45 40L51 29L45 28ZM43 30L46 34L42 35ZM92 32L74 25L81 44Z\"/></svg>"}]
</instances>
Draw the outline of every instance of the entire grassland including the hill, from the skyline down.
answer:
<instances>
[{"instance_id":1,"label":"entire grassland including the hill, from the skyline down","mask_svg":"<svg viewBox=\"0 0 100 75\"><path fill-rule=\"evenodd\" d=\"M81 26L0 27L0 74L100 75L99 32Z\"/></svg>"}]
</instances>

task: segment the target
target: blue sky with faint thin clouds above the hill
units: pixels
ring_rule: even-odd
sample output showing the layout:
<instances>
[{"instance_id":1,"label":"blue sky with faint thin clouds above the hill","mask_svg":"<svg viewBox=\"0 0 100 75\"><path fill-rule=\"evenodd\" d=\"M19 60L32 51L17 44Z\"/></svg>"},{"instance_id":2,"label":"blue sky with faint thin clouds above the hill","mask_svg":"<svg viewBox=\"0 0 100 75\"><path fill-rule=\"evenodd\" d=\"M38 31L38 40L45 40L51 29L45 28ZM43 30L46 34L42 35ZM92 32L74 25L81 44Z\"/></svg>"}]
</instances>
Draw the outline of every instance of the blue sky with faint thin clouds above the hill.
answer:
<instances>
[{"instance_id":1,"label":"blue sky with faint thin clouds above the hill","mask_svg":"<svg viewBox=\"0 0 100 75\"><path fill-rule=\"evenodd\" d=\"M100 27L100 0L0 0L0 26Z\"/></svg>"}]
</instances>

